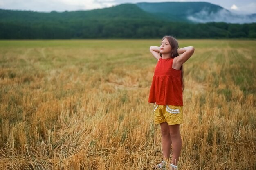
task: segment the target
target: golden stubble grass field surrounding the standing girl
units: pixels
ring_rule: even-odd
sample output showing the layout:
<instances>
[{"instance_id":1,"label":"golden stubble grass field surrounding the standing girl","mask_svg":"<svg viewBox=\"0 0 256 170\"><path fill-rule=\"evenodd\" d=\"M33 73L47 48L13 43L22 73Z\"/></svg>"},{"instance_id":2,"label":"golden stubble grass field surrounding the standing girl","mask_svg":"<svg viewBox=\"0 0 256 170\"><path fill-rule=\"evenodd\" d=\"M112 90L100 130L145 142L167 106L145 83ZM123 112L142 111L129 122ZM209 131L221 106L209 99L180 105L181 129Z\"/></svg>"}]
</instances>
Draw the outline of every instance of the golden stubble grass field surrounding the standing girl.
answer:
<instances>
[{"instance_id":1,"label":"golden stubble grass field surrounding the standing girl","mask_svg":"<svg viewBox=\"0 0 256 170\"><path fill-rule=\"evenodd\" d=\"M149 170L160 40L0 41L0 169ZM182 170L256 169L256 41L180 40Z\"/></svg>"}]
</instances>

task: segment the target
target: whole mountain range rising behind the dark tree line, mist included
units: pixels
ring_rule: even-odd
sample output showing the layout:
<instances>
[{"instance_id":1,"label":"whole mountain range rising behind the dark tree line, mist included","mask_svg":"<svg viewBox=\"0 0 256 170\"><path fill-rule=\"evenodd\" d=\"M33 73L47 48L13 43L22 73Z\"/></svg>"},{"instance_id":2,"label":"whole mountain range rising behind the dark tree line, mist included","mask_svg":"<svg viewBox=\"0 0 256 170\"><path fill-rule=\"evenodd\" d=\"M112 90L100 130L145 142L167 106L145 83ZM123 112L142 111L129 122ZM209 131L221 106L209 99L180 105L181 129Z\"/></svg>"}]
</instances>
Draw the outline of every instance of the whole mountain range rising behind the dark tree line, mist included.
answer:
<instances>
[{"instance_id":1,"label":"whole mountain range rising behind the dark tree line, mist included","mask_svg":"<svg viewBox=\"0 0 256 170\"><path fill-rule=\"evenodd\" d=\"M39 17L40 16L40 17ZM114 7L89 11L65 11L49 13L0 9L0 21L10 20L69 20L69 19L106 19L106 18L144 18L172 22L206 23L252 23L256 14L236 14L223 7L208 2L161 2L121 4ZM39 19L40 20L40 19Z\"/></svg>"}]
</instances>

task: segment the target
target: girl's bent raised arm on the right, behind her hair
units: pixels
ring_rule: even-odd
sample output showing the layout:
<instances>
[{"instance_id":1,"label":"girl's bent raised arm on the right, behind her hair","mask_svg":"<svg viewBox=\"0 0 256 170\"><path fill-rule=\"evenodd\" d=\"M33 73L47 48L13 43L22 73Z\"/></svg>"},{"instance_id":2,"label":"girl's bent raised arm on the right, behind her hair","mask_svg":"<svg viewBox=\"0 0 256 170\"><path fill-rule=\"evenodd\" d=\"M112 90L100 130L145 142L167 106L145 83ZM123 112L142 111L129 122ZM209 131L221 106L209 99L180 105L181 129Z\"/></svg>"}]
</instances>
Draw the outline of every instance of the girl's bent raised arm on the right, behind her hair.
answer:
<instances>
[{"instance_id":1,"label":"girl's bent raised arm on the right, behind her hair","mask_svg":"<svg viewBox=\"0 0 256 170\"><path fill-rule=\"evenodd\" d=\"M184 47L184 48L179 48L178 49L178 54L180 54L175 61L175 65L177 65L178 67L185 63L194 53L195 48L192 46L189 47Z\"/></svg>"}]
</instances>

